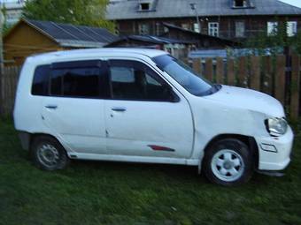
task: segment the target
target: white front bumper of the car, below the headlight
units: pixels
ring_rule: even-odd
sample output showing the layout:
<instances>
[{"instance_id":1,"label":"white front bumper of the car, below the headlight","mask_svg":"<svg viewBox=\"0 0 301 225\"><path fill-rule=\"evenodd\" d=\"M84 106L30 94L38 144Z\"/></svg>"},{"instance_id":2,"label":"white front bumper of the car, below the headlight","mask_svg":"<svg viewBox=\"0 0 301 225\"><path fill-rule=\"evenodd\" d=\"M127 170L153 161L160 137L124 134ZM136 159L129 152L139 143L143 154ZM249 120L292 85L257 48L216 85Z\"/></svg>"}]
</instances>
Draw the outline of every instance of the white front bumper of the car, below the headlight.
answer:
<instances>
[{"instance_id":1,"label":"white front bumper of the car, below the headlight","mask_svg":"<svg viewBox=\"0 0 301 225\"><path fill-rule=\"evenodd\" d=\"M282 170L289 165L294 140L290 127L282 137L255 139L259 147L259 170Z\"/></svg>"}]
</instances>

